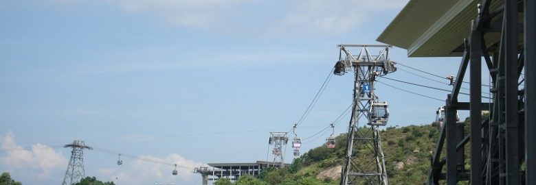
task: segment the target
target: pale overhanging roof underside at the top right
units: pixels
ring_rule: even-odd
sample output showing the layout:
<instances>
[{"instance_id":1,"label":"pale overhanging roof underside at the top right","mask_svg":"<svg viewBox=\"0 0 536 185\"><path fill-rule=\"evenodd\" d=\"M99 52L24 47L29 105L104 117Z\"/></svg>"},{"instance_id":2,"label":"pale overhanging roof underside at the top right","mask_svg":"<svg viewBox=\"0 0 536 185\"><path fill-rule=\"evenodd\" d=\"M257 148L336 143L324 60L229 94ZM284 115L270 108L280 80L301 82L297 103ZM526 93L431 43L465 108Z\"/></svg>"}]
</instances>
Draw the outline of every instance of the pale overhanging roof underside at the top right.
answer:
<instances>
[{"instance_id":1,"label":"pale overhanging roof underside at the top right","mask_svg":"<svg viewBox=\"0 0 536 185\"><path fill-rule=\"evenodd\" d=\"M479 2L410 0L377 40L410 57L461 56Z\"/></svg>"}]
</instances>

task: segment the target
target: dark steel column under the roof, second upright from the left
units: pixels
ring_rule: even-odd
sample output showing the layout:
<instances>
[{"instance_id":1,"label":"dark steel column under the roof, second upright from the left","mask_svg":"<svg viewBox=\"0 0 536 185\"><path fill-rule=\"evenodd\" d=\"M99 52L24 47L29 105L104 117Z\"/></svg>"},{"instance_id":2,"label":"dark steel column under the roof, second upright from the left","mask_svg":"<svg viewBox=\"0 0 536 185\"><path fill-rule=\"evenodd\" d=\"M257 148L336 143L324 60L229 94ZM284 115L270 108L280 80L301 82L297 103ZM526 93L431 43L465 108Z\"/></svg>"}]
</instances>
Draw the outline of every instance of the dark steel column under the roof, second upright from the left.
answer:
<instances>
[{"instance_id":1,"label":"dark steel column under the roof, second upright from the left","mask_svg":"<svg viewBox=\"0 0 536 185\"><path fill-rule=\"evenodd\" d=\"M469 101L471 110L471 184L482 184L482 30L471 23Z\"/></svg>"}]
</instances>

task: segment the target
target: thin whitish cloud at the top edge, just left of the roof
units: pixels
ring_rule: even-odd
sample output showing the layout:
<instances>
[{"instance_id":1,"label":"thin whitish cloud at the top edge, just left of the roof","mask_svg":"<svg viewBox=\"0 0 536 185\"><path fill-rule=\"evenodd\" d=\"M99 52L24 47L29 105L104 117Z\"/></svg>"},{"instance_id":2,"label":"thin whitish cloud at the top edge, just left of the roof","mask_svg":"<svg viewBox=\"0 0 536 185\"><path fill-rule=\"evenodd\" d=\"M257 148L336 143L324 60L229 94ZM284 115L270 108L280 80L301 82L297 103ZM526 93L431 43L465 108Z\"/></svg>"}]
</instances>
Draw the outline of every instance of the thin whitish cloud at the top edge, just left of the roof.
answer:
<instances>
[{"instance_id":1,"label":"thin whitish cloud at the top edge, just left of the roof","mask_svg":"<svg viewBox=\"0 0 536 185\"><path fill-rule=\"evenodd\" d=\"M407 0L306 0L295 3L269 34L288 32L346 33L374 21L382 12L400 10Z\"/></svg>"}]
</instances>

